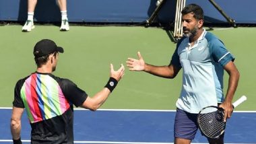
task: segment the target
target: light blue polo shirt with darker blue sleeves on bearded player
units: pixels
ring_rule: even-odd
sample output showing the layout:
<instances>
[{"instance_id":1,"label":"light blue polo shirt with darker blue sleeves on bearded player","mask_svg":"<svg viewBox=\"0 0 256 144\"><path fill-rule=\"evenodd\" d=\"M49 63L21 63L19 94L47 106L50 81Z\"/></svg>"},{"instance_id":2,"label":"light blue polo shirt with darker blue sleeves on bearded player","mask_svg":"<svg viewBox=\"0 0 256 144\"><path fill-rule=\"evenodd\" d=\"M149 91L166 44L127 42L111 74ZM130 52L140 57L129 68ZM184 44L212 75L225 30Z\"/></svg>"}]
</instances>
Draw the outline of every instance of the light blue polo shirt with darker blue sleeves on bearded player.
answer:
<instances>
[{"instance_id":1,"label":"light blue polo shirt with darker blue sleeves on bearded player","mask_svg":"<svg viewBox=\"0 0 256 144\"><path fill-rule=\"evenodd\" d=\"M172 55L171 64L183 68L183 85L177 108L198 113L205 106L224 101L224 66L234 57L214 34L206 32L193 46L183 37Z\"/></svg>"}]
</instances>

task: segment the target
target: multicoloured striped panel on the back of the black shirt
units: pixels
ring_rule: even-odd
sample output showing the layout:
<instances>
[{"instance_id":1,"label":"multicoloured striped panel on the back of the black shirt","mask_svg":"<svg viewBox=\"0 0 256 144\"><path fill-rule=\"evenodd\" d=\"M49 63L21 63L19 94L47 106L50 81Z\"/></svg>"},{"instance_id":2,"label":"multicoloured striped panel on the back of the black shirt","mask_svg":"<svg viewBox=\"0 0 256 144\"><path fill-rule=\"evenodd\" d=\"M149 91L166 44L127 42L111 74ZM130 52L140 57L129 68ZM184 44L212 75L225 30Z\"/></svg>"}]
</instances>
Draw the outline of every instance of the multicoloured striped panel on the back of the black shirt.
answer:
<instances>
[{"instance_id":1,"label":"multicoloured striped panel on the back of the black shirt","mask_svg":"<svg viewBox=\"0 0 256 144\"><path fill-rule=\"evenodd\" d=\"M21 97L31 123L60 116L70 107L59 83L49 75L30 75L22 86Z\"/></svg>"}]
</instances>

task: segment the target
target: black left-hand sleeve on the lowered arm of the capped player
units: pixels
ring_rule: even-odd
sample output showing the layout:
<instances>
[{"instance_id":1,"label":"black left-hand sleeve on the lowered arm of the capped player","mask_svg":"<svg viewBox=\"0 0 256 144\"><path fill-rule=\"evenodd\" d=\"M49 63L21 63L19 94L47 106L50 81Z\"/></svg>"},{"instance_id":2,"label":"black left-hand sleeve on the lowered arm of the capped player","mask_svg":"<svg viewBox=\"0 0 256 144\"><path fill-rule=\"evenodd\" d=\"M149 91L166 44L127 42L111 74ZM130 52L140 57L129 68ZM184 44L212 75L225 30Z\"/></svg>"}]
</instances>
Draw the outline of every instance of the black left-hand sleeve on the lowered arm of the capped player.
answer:
<instances>
[{"instance_id":1,"label":"black left-hand sleeve on the lowered arm of the capped player","mask_svg":"<svg viewBox=\"0 0 256 144\"><path fill-rule=\"evenodd\" d=\"M20 79L14 88L14 100L12 102L13 106L16 108L25 108L24 103L22 102L22 97L20 96L20 90L24 84L24 79Z\"/></svg>"}]
</instances>

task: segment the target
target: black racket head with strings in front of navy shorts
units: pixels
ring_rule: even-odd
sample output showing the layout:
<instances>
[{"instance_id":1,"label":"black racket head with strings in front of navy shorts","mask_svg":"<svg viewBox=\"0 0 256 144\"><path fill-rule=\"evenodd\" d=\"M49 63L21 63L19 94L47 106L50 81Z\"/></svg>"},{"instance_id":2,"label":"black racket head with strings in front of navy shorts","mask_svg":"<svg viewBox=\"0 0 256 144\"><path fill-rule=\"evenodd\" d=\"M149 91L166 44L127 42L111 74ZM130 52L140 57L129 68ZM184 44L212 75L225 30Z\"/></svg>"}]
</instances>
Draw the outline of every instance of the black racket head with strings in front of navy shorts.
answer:
<instances>
[{"instance_id":1,"label":"black racket head with strings in front of navy shorts","mask_svg":"<svg viewBox=\"0 0 256 144\"><path fill-rule=\"evenodd\" d=\"M202 114L199 114L199 127L201 128L201 131L207 137L219 137L225 129L225 122L223 120L224 116L222 112L220 112L220 110L216 110L214 112L201 113Z\"/></svg>"}]
</instances>

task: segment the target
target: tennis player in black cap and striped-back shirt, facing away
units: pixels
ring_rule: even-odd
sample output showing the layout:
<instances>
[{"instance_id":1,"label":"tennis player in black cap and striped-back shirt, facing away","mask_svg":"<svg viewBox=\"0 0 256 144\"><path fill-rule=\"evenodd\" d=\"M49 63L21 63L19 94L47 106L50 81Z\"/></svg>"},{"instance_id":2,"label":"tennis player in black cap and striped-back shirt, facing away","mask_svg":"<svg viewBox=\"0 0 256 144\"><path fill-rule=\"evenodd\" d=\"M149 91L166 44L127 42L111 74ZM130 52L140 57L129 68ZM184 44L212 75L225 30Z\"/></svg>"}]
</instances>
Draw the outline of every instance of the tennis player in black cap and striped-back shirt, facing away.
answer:
<instances>
[{"instance_id":1,"label":"tennis player in black cap and striped-back shirt, facing away","mask_svg":"<svg viewBox=\"0 0 256 144\"><path fill-rule=\"evenodd\" d=\"M52 40L40 40L34 46L36 72L20 79L14 90L11 114L13 143L22 143L20 133L24 108L31 125L31 143L73 143L73 105L97 110L123 77L123 65L115 71L110 64L110 78L92 98L69 79L53 75L63 48Z\"/></svg>"}]
</instances>

